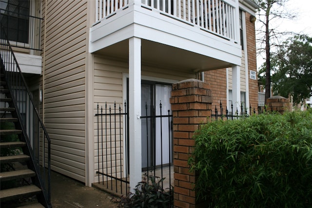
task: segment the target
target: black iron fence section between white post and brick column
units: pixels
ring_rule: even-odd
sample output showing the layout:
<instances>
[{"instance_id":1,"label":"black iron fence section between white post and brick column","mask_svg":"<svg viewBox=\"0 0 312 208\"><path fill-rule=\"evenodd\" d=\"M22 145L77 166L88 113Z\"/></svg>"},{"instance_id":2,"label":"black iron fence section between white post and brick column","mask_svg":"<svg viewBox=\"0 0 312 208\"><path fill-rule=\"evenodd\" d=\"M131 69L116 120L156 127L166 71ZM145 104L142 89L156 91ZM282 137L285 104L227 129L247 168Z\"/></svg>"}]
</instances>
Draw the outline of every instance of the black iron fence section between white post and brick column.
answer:
<instances>
[{"instance_id":1,"label":"black iron fence section between white post and brick column","mask_svg":"<svg viewBox=\"0 0 312 208\"><path fill-rule=\"evenodd\" d=\"M146 167L143 168L146 176L149 172L156 177L166 178L161 181L162 188L169 188L172 185L172 160L173 160L173 115L170 110L167 114L162 113L162 104L160 102L158 111L154 106L145 103L145 116L141 116L142 122L142 141L145 143ZM157 113L159 113L157 115ZM142 113L143 114L143 113ZM143 135L143 132L145 135ZM164 183L166 184L164 187Z\"/></svg>"}]
</instances>

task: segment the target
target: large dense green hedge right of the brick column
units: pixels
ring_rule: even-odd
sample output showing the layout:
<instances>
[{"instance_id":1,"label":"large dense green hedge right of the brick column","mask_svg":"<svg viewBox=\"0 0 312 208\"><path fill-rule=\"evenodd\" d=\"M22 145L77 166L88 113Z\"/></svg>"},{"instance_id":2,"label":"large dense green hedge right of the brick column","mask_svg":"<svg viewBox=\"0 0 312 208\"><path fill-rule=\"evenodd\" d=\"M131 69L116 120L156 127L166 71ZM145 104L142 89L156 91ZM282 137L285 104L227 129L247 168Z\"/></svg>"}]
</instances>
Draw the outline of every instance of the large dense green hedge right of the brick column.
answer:
<instances>
[{"instance_id":1,"label":"large dense green hedge right of the brick column","mask_svg":"<svg viewBox=\"0 0 312 208\"><path fill-rule=\"evenodd\" d=\"M212 122L195 141L188 162L209 207L312 205L312 109Z\"/></svg>"}]
</instances>

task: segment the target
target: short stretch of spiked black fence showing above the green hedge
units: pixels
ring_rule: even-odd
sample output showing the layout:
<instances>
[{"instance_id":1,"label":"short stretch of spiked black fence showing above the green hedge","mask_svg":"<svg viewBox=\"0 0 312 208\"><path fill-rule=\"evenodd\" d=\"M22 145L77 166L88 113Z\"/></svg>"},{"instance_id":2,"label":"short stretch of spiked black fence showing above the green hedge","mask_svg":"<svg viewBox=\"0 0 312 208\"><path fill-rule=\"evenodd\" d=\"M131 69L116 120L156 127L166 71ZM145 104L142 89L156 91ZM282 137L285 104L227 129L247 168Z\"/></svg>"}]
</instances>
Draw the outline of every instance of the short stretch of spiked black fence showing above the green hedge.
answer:
<instances>
[{"instance_id":1,"label":"short stretch of spiked black fence showing above the green hedge","mask_svg":"<svg viewBox=\"0 0 312 208\"><path fill-rule=\"evenodd\" d=\"M238 109L236 108L236 111L234 111L234 106L233 103L231 102L231 107L230 109L225 106L225 111L224 107L222 105L222 102L220 101L220 107L217 108L215 105L215 110L211 110L211 119L218 120L220 119L227 119L227 120L234 120L238 118L244 118L250 116L252 113L256 113L255 109L252 108L250 105L249 108L244 108L243 103L240 105L240 113L238 113ZM214 113L213 113L214 112Z\"/></svg>"}]
</instances>

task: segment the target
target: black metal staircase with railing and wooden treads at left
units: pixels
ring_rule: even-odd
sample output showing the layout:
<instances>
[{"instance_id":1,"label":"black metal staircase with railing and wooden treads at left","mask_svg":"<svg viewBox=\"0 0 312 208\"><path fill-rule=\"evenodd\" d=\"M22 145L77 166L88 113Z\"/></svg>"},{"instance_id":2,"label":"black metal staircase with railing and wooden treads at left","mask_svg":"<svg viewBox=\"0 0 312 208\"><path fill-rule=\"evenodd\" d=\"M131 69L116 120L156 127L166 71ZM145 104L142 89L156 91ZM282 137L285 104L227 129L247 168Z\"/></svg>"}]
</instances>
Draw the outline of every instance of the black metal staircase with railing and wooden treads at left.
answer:
<instances>
[{"instance_id":1,"label":"black metal staircase with railing and wooden treads at left","mask_svg":"<svg viewBox=\"0 0 312 208\"><path fill-rule=\"evenodd\" d=\"M0 52L0 207L51 208L50 139L9 41Z\"/></svg>"}]
</instances>

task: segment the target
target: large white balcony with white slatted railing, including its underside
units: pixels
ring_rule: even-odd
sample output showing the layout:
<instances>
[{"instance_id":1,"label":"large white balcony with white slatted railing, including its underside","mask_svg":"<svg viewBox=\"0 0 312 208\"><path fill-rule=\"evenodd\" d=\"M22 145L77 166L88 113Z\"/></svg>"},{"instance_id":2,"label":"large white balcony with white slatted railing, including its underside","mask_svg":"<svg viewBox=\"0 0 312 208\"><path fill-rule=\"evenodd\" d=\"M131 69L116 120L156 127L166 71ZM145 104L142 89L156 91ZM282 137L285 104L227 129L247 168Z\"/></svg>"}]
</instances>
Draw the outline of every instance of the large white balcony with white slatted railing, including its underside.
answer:
<instances>
[{"instance_id":1,"label":"large white balcony with white slatted railing, including its underside","mask_svg":"<svg viewBox=\"0 0 312 208\"><path fill-rule=\"evenodd\" d=\"M127 60L128 39L137 37L142 63L193 71L240 65L238 0L97 0L95 10L90 53Z\"/></svg>"}]
</instances>

